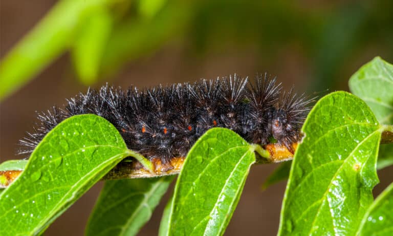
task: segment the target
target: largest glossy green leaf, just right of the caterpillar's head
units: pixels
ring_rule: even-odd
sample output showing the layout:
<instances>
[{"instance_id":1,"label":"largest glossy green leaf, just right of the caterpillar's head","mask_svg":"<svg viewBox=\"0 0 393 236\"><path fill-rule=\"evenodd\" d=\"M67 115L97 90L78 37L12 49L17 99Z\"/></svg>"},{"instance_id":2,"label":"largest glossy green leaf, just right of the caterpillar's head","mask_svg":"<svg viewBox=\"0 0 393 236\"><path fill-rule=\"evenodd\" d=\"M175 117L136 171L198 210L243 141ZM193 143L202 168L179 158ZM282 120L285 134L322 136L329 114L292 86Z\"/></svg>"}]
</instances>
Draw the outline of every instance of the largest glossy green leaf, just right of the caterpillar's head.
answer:
<instances>
[{"instance_id":1,"label":"largest glossy green leaf, just right of the caterpillar's head","mask_svg":"<svg viewBox=\"0 0 393 236\"><path fill-rule=\"evenodd\" d=\"M354 235L378 183L381 126L346 93L317 102L302 127L282 203L279 235Z\"/></svg>"}]
</instances>

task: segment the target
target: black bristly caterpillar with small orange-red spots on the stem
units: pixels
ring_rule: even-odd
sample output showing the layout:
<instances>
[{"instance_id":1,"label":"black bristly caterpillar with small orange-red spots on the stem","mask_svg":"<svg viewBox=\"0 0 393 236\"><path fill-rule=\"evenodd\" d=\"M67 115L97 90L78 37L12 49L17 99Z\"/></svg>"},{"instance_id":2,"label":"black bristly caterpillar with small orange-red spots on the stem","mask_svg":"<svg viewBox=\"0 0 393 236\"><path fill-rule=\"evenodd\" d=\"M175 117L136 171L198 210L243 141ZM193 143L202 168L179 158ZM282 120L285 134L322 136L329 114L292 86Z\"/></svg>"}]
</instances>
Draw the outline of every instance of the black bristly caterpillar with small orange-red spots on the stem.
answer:
<instances>
[{"instance_id":1,"label":"black bristly caterpillar with small orange-red spots on the stem","mask_svg":"<svg viewBox=\"0 0 393 236\"><path fill-rule=\"evenodd\" d=\"M255 83L237 75L195 83L172 84L139 91L103 86L53 106L38 115L33 133L20 140L19 154L30 155L42 138L62 120L96 114L110 121L128 148L170 163L187 155L209 128L226 127L250 143L268 144L273 137L292 153L313 99L281 92L281 84L267 74Z\"/></svg>"}]
</instances>

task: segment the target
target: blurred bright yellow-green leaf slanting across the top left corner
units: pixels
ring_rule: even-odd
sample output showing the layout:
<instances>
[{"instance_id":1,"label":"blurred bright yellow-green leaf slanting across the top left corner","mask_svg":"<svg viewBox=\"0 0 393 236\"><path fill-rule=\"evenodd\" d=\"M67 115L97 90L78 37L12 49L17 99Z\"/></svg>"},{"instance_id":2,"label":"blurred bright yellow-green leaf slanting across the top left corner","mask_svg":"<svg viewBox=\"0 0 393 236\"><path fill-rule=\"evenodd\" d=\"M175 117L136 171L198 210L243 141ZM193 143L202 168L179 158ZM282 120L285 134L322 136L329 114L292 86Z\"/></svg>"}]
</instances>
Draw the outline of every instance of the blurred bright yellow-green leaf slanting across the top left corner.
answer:
<instances>
[{"instance_id":1,"label":"blurred bright yellow-green leaf slanting across the top left corner","mask_svg":"<svg viewBox=\"0 0 393 236\"><path fill-rule=\"evenodd\" d=\"M59 1L0 63L0 100L32 79L63 53L85 15L110 0Z\"/></svg>"}]
</instances>

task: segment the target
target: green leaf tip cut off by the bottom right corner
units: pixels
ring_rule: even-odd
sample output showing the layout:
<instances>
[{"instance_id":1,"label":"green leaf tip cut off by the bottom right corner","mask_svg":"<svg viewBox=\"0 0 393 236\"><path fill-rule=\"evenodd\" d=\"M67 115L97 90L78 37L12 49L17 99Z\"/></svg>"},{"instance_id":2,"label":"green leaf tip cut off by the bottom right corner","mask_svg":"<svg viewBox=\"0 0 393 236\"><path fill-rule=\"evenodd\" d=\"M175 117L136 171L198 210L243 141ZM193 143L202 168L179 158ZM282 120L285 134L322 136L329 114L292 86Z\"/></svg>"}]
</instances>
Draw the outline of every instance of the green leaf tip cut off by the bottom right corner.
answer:
<instances>
[{"instance_id":1,"label":"green leaf tip cut off by the bottom right corner","mask_svg":"<svg viewBox=\"0 0 393 236\"><path fill-rule=\"evenodd\" d=\"M371 205L359 227L358 234L365 236L393 235L393 183Z\"/></svg>"}]
</instances>

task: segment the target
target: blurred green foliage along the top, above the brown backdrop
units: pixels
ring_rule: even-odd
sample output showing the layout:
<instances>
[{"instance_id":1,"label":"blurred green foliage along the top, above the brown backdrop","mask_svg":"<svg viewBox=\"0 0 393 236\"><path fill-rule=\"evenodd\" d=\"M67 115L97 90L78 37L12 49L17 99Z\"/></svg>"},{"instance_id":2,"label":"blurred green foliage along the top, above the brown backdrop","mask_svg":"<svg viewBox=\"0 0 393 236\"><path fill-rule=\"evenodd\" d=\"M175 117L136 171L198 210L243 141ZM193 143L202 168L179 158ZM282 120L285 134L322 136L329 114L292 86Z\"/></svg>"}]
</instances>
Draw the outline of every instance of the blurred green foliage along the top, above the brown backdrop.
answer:
<instances>
[{"instance_id":1,"label":"blurred green foliage along the top, above the brown backdrop","mask_svg":"<svg viewBox=\"0 0 393 236\"><path fill-rule=\"evenodd\" d=\"M340 70L370 47L393 60L391 12L389 0L61 0L2 58L0 100L65 52L89 85L170 41L195 55L252 45L264 61L299 45L314 68L310 88L333 89Z\"/></svg>"}]
</instances>

